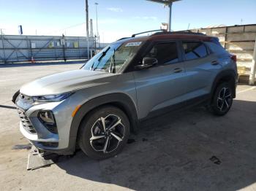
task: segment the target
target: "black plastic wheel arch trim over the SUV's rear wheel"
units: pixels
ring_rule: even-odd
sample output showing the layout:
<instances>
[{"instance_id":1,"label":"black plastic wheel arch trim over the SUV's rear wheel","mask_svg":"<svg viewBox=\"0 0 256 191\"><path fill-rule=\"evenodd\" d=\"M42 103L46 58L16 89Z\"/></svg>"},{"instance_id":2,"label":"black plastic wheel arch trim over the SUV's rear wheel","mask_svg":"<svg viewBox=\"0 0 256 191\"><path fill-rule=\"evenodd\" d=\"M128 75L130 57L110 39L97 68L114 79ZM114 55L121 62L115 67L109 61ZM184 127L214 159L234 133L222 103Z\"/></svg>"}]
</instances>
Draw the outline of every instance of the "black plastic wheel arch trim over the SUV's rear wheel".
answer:
<instances>
[{"instance_id":1,"label":"black plastic wheel arch trim over the SUV's rear wheel","mask_svg":"<svg viewBox=\"0 0 256 191\"><path fill-rule=\"evenodd\" d=\"M232 69L227 69L225 71L221 71L219 74L217 74L217 76L214 79L213 85L211 86L211 98L214 95L214 91L217 87L217 85L219 84L219 82L222 79L227 79L228 82L233 82L233 90L234 90L234 95L233 98L236 98L236 84L237 84L237 74L234 70ZM211 101L211 100L210 100Z\"/></svg>"}]
</instances>

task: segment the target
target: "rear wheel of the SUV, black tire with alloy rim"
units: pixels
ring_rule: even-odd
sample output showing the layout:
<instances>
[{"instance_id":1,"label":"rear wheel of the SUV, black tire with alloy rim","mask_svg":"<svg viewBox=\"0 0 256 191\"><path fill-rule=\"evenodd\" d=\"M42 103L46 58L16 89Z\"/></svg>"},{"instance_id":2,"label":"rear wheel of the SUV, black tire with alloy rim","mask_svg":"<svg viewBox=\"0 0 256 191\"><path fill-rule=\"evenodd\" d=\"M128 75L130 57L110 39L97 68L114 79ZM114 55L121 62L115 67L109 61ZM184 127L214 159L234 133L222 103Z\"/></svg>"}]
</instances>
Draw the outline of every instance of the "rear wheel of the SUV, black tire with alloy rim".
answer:
<instances>
[{"instance_id":1,"label":"rear wheel of the SUV, black tire with alloy rim","mask_svg":"<svg viewBox=\"0 0 256 191\"><path fill-rule=\"evenodd\" d=\"M233 89L230 83L222 82L214 92L214 97L211 101L211 112L222 116L227 114L233 103Z\"/></svg>"}]
</instances>

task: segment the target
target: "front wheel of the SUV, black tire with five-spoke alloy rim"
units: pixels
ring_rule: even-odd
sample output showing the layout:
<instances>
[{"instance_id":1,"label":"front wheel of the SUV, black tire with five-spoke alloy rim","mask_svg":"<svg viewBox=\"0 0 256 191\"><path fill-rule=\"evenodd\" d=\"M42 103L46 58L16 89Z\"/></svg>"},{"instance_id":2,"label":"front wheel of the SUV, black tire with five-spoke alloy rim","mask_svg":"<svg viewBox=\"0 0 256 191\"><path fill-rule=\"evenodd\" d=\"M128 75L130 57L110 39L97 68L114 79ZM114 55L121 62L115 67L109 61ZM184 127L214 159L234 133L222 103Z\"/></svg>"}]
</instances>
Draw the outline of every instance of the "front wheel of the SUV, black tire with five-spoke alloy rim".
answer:
<instances>
[{"instance_id":1,"label":"front wheel of the SUV, black tire with five-spoke alloy rim","mask_svg":"<svg viewBox=\"0 0 256 191\"><path fill-rule=\"evenodd\" d=\"M105 128L102 121L105 121ZM110 128L116 123L118 125ZM117 155L124 148L129 137L129 120L121 109L102 106L85 117L78 133L80 149L94 160L103 160Z\"/></svg>"}]
</instances>

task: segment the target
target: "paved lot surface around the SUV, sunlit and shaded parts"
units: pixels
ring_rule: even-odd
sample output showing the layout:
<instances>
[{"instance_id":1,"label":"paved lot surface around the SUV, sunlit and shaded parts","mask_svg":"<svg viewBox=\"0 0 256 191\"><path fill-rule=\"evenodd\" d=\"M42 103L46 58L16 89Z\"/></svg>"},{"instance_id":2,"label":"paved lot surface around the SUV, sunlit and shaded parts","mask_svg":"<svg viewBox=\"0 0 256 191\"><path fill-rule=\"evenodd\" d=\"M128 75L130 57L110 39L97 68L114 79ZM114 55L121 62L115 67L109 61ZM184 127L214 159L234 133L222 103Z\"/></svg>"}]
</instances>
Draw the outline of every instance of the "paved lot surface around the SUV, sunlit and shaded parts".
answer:
<instances>
[{"instance_id":1,"label":"paved lot surface around the SUV, sunlit and shaded parts","mask_svg":"<svg viewBox=\"0 0 256 191\"><path fill-rule=\"evenodd\" d=\"M0 190L256 190L256 87L238 85L225 117L204 108L165 114L140 126L120 155L82 152L26 171L28 144L10 101L26 82L79 64L0 66Z\"/></svg>"}]
</instances>

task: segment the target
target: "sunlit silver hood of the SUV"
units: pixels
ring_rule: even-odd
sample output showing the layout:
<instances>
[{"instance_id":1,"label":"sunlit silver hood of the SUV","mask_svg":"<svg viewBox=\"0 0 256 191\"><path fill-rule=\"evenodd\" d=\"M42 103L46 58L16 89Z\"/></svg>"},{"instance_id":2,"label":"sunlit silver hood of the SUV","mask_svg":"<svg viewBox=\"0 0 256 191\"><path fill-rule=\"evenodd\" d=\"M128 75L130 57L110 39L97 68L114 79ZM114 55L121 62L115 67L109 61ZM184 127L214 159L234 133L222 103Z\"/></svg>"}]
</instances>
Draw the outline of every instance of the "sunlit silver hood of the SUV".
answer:
<instances>
[{"instance_id":1,"label":"sunlit silver hood of the SUV","mask_svg":"<svg viewBox=\"0 0 256 191\"><path fill-rule=\"evenodd\" d=\"M20 88L20 93L29 96L56 95L113 81L117 74L83 69L65 71L29 82Z\"/></svg>"}]
</instances>

